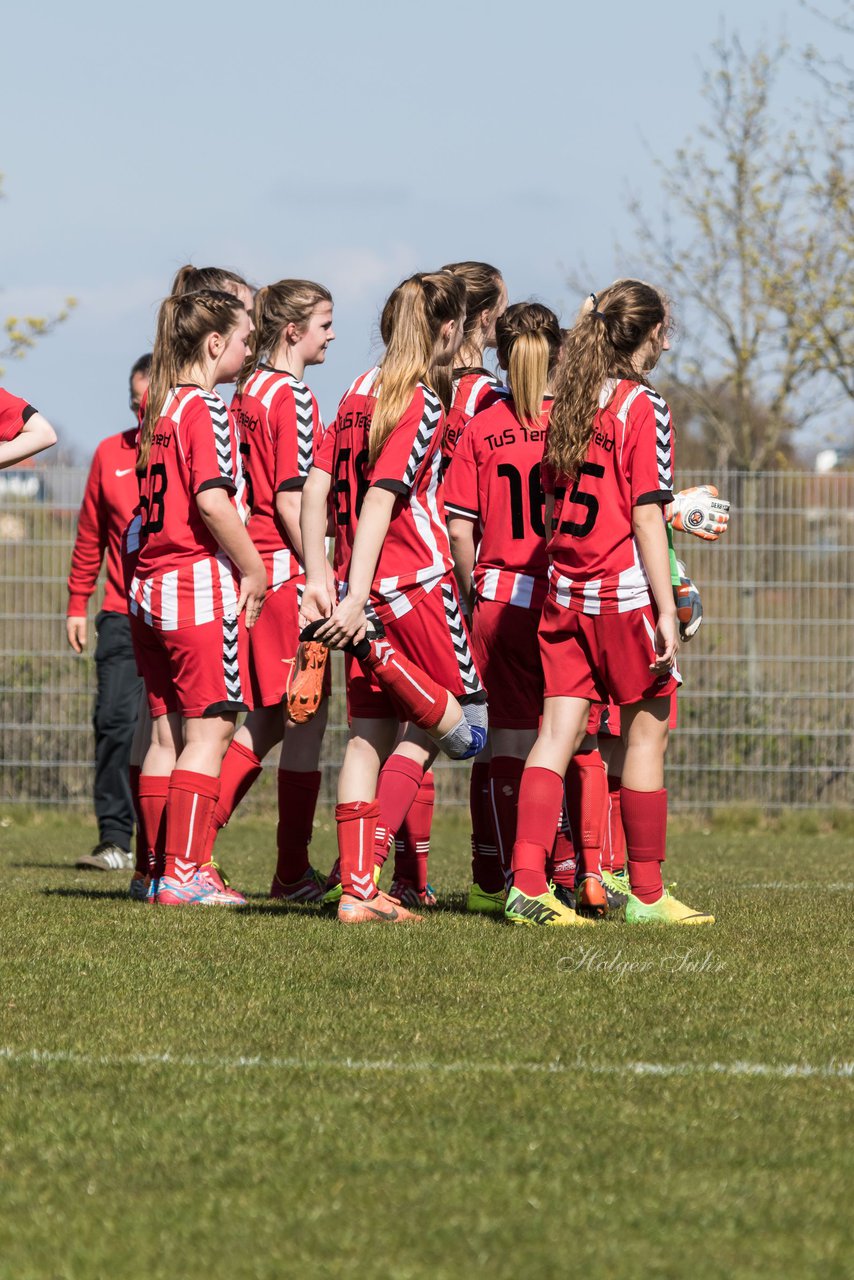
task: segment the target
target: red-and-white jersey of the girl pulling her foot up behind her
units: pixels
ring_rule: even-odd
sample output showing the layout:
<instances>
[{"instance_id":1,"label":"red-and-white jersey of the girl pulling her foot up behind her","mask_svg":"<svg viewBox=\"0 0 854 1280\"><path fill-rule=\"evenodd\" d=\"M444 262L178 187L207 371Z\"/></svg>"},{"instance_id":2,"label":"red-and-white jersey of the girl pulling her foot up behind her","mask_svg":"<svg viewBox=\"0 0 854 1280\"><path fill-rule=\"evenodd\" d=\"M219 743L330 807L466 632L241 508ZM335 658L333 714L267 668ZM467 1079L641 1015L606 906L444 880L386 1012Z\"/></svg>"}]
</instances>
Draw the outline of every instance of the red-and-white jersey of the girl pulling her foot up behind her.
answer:
<instances>
[{"instance_id":1,"label":"red-and-white jersey of the girl pulling her foot up behind her","mask_svg":"<svg viewBox=\"0 0 854 1280\"><path fill-rule=\"evenodd\" d=\"M408 613L451 568L442 500L442 426L438 396L423 383L370 466L367 433L379 370L357 378L323 438L315 466L333 477L335 576L343 594L362 499L376 485L397 495L371 585L375 604Z\"/></svg>"}]
</instances>

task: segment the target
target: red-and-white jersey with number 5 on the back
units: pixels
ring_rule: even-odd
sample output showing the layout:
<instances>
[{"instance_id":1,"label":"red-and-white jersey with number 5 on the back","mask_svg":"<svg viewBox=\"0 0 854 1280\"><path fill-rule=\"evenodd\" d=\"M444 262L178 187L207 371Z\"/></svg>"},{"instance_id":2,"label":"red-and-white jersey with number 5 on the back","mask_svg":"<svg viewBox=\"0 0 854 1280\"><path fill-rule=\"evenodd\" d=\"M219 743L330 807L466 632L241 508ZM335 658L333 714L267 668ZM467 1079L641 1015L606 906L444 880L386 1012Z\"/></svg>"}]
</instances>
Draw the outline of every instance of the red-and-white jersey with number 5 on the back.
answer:
<instances>
[{"instance_id":1,"label":"red-and-white jersey with number 5 on the back","mask_svg":"<svg viewBox=\"0 0 854 1280\"><path fill-rule=\"evenodd\" d=\"M571 488L543 467L545 492L554 494L549 595L581 613L630 613L650 603L632 507L673 497L670 408L649 387L629 380L607 383L599 403Z\"/></svg>"}]
</instances>

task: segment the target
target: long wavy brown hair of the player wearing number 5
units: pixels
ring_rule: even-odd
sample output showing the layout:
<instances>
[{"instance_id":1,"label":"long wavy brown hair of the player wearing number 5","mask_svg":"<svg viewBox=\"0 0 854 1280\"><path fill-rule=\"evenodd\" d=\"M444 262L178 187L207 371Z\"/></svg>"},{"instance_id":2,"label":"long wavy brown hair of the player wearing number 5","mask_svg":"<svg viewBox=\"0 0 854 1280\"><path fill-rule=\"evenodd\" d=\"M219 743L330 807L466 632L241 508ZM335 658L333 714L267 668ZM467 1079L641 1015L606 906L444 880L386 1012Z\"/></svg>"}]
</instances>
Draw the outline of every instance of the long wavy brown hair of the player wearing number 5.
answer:
<instances>
[{"instance_id":1,"label":"long wavy brown hair of the player wearing number 5","mask_svg":"<svg viewBox=\"0 0 854 1280\"><path fill-rule=\"evenodd\" d=\"M557 472L577 475L609 378L648 385L631 358L666 321L667 300L643 280L616 280L590 294L566 335L554 378L545 457Z\"/></svg>"}]
</instances>

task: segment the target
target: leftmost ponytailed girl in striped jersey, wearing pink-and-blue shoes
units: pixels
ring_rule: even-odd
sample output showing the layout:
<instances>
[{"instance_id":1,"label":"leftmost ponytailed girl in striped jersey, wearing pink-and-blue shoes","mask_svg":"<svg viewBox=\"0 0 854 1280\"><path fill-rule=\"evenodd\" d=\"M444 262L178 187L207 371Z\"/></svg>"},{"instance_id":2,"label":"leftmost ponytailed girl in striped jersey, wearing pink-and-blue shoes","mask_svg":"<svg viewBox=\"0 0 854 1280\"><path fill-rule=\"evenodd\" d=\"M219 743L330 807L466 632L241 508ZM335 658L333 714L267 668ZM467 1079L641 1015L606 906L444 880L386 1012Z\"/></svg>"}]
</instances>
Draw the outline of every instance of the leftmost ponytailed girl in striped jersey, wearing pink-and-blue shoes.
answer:
<instances>
[{"instance_id":1,"label":"leftmost ponytailed girl in striped jersey, wearing pink-and-blue shoes","mask_svg":"<svg viewBox=\"0 0 854 1280\"><path fill-rule=\"evenodd\" d=\"M150 896L169 906L245 901L210 867L206 833L237 713L248 709L246 634L266 588L239 504L234 422L214 390L237 378L251 326L230 292L166 298L140 430L129 607L152 718L140 803L163 858Z\"/></svg>"}]
</instances>

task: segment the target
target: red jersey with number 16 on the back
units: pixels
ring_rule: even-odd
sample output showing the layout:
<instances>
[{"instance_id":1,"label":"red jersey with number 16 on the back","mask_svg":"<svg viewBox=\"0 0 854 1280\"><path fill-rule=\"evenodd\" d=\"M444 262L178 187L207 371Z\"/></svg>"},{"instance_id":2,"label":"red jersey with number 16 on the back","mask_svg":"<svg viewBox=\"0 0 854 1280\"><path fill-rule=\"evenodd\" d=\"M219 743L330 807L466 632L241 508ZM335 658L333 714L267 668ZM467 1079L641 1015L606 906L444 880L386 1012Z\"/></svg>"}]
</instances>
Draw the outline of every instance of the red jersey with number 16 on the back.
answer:
<instances>
[{"instance_id":1,"label":"red jersey with number 16 on the back","mask_svg":"<svg viewBox=\"0 0 854 1280\"><path fill-rule=\"evenodd\" d=\"M444 477L444 506L481 530L474 582L481 600L540 608L548 556L540 471L552 398L538 426L520 422L512 399L476 413Z\"/></svg>"}]
</instances>

